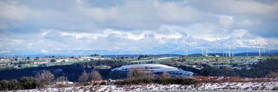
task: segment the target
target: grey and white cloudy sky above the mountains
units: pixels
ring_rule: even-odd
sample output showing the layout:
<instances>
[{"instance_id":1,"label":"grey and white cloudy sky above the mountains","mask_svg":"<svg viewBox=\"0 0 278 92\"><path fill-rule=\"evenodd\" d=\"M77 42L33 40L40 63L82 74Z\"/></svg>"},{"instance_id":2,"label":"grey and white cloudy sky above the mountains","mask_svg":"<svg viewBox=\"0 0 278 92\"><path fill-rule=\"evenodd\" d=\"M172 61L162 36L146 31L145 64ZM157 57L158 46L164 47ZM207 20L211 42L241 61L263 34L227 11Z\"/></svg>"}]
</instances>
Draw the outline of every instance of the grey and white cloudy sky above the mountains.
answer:
<instances>
[{"instance_id":1,"label":"grey and white cloudy sky above the mountains","mask_svg":"<svg viewBox=\"0 0 278 92\"><path fill-rule=\"evenodd\" d=\"M278 1L0 1L1 49L130 47L146 36L277 42Z\"/></svg>"}]
</instances>

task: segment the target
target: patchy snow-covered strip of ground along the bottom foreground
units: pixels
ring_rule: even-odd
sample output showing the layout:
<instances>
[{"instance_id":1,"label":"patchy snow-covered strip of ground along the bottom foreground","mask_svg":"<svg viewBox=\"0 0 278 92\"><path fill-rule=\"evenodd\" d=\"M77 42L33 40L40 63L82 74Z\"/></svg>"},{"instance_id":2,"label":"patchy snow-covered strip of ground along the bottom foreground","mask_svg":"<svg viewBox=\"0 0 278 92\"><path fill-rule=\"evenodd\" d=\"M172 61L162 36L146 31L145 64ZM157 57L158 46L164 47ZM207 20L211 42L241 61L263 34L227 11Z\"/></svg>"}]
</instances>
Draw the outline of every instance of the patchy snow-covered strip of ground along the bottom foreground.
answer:
<instances>
[{"instance_id":1,"label":"patchy snow-covered strip of ground along the bottom foreground","mask_svg":"<svg viewBox=\"0 0 278 92\"><path fill-rule=\"evenodd\" d=\"M202 83L200 85L131 85L131 86L117 86L117 85L103 85L103 86L86 86L86 87L67 87L67 88L46 88L46 89L31 89L21 90L15 92L123 92L123 91L162 91L162 90L185 90L188 91L200 91L200 90L215 90L215 91L252 91L252 90L264 90L271 91L278 89L278 82L266 82L266 83ZM12 91L10 91L12 92Z\"/></svg>"}]
</instances>

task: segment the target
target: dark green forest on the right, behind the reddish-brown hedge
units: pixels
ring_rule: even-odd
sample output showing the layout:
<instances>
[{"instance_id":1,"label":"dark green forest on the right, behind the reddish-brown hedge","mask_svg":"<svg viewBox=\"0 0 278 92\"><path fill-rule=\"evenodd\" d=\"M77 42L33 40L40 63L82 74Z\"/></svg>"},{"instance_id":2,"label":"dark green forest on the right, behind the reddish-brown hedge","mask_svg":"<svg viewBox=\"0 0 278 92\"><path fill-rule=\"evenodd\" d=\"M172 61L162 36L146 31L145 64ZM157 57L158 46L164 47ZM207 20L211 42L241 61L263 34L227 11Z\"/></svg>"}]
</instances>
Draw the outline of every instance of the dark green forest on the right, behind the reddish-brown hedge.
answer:
<instances>
[{"instance_id":1,"label":"dark green forest on the right, behind the reddish-brown hedge","mask_svg":"<svg viewBox=\"0 0 278 92\"><path fill-rule=\"evenodd\" d=\"M226 66L215 68L208 64L197 64L197 66L203 68L201 70L193 68L192 66L178 66L178 68L194 72L194 75L198 76L240 76L242 78L262 78L272 72L278 72L278 59L268 58L264 61L259 61L257 64L252 64L250 69L232 69Z\"/></svg>"}]
</instances>

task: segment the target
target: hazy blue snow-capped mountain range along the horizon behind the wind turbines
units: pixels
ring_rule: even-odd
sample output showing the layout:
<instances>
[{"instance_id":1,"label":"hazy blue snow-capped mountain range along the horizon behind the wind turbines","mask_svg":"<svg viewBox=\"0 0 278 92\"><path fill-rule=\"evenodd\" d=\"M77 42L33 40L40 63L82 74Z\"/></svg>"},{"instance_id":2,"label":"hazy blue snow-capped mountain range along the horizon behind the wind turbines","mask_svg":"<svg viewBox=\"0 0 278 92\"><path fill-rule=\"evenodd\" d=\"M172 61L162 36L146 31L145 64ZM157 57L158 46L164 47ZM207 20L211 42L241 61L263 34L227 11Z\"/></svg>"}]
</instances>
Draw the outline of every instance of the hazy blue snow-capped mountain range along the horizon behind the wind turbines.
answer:
<instances>
[{"instance_id":1,"label":"hazy blue snow-capped mountain range along the horizon behind the wind turbines","mask_svg":"<svg viewBox=\"0 0 278 92\"><path fill-rule=\"evenodd\" d=\"M152 45L157 47L155 49L155 54L162 54L162 49L164 49L164 54L170 53L170 48L172 48L172 54L184 54L184 47L188 48L189 54L193 53L202 53L201 48L204 47L208 49L207 53L214 53L214 48L218 49L216 53L222 53L223 50L229 50L229 46L231 46L231 51L235 51L235 53L246 52L246 48L249 47L248 52L257 52L257 48L265 47L268 48L276 48L277 43L273 41L269 41L264 38L257 39L246 39L239 37L231 37L228 39L220 39L216 41L207 41L204 39L193 38L192 36L181 37L181 38L171 38L171 37L162 37L155 38L153 36L145 36L143 39L138 40L140 43L147 43L147 45L142 45L140 48L144 48L144 54L153 54ZM137 53L137 46L134 45L134 54ZM276 50L272 49L272 50ZM28 49L28 55L42 54L42 55L91 55L93 53L103 55L109 55L109 51L111 55L116 54L116 50L124 51L124 54L132 54L132 47L110 47L105 50L103 49L94 49L94 50L72 50L72 49L39 49L39 50L31 50ZM140 49L142 51L142 49ZM140 51L140 54L142 53ZM120 51L118 51L118 55ZM0 55L21 55L27 53L27 49L0 49ZM121 52L122 54L123 52ZM204 50L205 53L205 50Z\"/></svg>"}]
</instances>

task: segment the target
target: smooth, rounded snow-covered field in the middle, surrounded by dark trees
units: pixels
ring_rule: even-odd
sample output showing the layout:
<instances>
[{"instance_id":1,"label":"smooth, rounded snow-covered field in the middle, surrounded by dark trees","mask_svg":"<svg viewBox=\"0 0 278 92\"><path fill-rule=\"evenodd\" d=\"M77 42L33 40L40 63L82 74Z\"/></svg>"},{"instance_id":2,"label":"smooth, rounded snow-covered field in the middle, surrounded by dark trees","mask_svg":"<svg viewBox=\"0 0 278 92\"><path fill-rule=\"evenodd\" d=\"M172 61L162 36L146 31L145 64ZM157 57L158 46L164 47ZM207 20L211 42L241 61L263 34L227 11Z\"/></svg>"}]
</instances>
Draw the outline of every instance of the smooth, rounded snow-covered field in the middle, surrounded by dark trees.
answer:
<instances>
[{"instance_id":1,"label":"smooth, rounded snow-covered field in the middle, surrounded by dark trees","mask_svg":"<svg viewBox=\"0 0 278 92\"><path fill-rule=\"evenodd\" d=\"M121 66L120 68L115 68L112 69L111 71L114 70L126 70L126 69L130 69L132 67L140 67L140 68L151 68L150 70L152 70L153 72L170 72L170 73L176 73L176 74L181 74L181 76L191 76L193 75L193 72L188 72L188 71L184 71L182 69L179 68L175 68L175 67L171 67L171 66L167 66L167 65L162 65L162 64L133 64L133 65L125 65L125 66Z\"/></svg>"}]
</instances>

